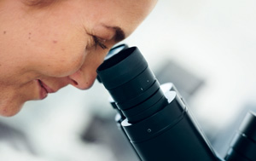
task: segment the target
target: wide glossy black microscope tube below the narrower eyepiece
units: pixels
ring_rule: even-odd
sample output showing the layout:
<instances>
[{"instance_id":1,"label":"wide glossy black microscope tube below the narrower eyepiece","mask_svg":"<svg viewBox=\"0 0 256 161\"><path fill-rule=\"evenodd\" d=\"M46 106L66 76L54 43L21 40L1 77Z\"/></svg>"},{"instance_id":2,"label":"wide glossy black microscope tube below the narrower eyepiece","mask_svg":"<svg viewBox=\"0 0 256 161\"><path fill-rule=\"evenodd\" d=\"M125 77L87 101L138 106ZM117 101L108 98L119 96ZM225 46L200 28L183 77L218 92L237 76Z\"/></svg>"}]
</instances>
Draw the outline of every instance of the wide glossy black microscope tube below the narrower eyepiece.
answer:
<instances>
[{"instance_id":1,"label":"wide glossy black microscope tube below the narrower eyepiece","mask_svg":"<svg viewBox=\"0 0 256 161\"><path fill-rule=\"evenodd\" d=\"M166 106L136 124L128 123L127 119L121 123L140 158L219 160L172 83L163 86L171 87L165 93Z\"/></svg>"}]
</instances>

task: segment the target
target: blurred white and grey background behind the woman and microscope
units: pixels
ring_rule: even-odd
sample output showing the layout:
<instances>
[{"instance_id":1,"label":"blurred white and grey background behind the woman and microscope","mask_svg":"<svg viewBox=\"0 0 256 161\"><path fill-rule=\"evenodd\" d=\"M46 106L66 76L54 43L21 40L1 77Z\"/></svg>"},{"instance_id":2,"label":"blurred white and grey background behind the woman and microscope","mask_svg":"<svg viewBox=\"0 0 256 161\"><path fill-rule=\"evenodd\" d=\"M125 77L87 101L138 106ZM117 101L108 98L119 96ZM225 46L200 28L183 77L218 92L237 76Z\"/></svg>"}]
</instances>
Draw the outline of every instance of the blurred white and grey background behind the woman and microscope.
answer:
<instances>
[{"instance_id":1,"label":"blurred white and grey background behind the woman and microscope","mask_svg":"<svg viewBox=\"0 0 256 161\"><path fill-rule=\"evenodd\" d=\"M224 156L256 111L256 1L160 0L131 37L161 83L172 82ZM68 86L0 118L0 160L137 160L116 128L108 93Z\"/></svg>"}]
</instances>

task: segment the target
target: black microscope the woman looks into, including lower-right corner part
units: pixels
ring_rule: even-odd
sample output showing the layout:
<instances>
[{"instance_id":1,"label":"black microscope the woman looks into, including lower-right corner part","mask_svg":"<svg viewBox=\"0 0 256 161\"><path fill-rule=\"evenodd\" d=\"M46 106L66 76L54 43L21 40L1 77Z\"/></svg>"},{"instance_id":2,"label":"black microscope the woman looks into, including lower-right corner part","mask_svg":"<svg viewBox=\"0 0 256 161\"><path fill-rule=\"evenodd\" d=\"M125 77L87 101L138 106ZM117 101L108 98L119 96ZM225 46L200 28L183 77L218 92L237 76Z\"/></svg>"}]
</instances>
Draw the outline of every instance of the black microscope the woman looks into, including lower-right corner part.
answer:
<instances>
[{"instance_id":1,"label":"black microscope the woman looks into, including lower-right corner part","mask_svg":"<svg viewBox=\"0 0 256 161\"><path fill-rule=\"evenodd\" d=\"M97 68L116 122L138 160L256 161L256 115L248 112L224 158L214 151L173 83L160 84L137 47L111 49Z\"/></svg>"}]
</instances>

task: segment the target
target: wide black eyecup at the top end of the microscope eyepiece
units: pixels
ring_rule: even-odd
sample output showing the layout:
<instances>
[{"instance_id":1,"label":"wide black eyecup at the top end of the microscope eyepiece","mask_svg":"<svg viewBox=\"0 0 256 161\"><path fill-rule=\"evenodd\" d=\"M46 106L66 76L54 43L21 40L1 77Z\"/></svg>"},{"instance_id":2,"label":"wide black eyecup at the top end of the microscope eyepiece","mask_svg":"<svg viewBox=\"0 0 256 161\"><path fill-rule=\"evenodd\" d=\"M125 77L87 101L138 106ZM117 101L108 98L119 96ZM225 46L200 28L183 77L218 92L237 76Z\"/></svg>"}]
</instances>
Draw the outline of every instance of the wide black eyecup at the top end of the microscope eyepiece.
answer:
<instances>
[{"instance_id":1,"label":"wide black eyecup at the top end of the microscope eyepiece","mask_svg":"<svg viewBox=\"0 0 256 161\"><path fill-rule=\"evenodd\" d=\"M132 66L131 66L132 65ZM124 49L117 55L105 60L97 73L106 89L114 89L135 78L148 67L143 55L136 48Z\"/></svg>"}]
</instances>

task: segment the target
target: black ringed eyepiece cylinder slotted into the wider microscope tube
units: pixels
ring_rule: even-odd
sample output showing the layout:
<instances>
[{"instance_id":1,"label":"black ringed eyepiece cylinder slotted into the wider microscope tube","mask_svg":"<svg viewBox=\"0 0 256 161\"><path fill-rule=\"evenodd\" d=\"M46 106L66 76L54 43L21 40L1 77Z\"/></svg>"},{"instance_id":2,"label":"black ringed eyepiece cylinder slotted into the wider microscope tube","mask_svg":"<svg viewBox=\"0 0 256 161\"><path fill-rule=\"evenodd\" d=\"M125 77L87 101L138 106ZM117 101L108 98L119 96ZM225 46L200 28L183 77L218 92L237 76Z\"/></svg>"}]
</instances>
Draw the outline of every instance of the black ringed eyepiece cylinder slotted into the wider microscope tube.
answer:
<instances>
[{"instance_id":1,"label":"black ringed eyepiece cylinder slotted into the wider microscope tube","mask_svg":"<svg viewBox=\"0 0 256 161\"><path fill-rule=\"evenodd\" d=\"M97 73L131 123L147 118L168 104L160 84L137 47L123 49L105 60Z\"/></svg>"}]
</instances>

